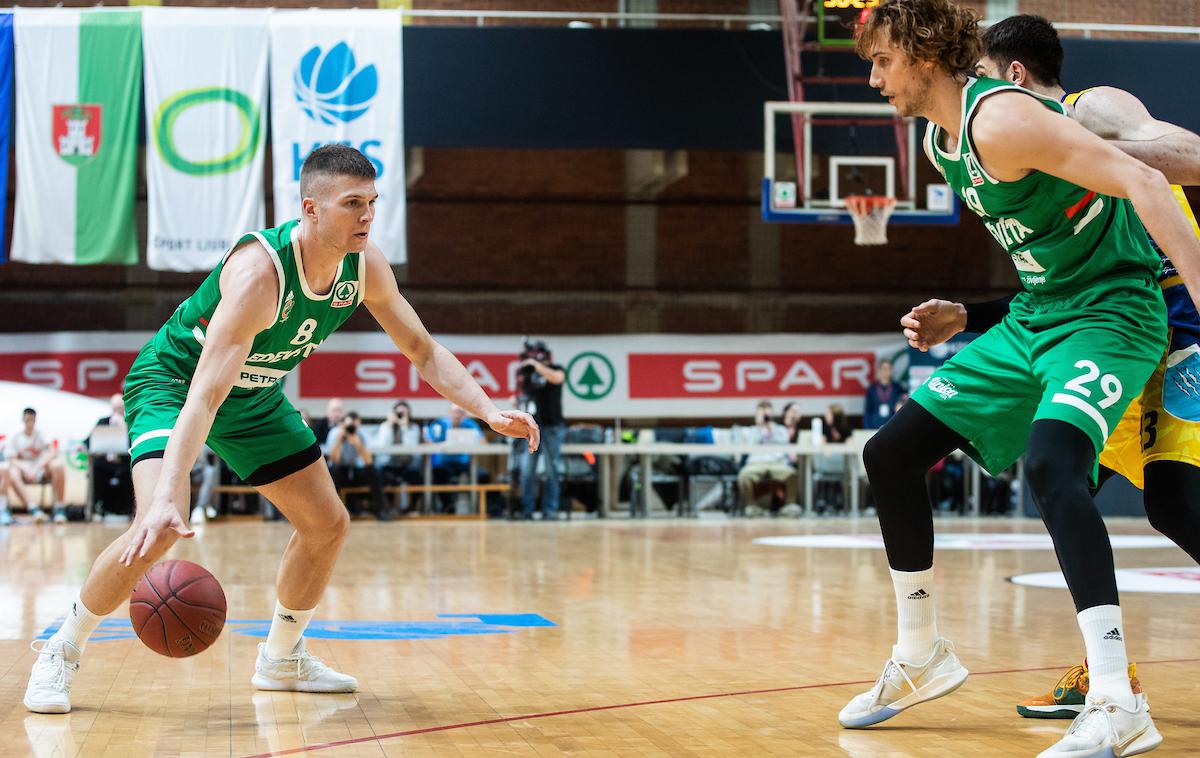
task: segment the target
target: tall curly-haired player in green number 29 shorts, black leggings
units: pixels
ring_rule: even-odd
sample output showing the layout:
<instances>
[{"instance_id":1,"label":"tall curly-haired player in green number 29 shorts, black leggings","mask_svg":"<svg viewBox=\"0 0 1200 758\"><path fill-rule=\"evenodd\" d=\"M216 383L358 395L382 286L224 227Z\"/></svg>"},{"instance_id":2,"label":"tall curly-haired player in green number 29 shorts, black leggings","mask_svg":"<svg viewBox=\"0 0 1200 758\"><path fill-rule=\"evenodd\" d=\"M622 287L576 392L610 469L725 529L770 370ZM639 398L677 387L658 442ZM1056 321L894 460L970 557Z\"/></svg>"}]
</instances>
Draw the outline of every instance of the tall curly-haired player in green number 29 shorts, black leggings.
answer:
<instances>
[{"instance_id":1,"label":"tall curly-haired player in green number 29 shorts, black leggings","mask_svg":"<svg viewBox=\"0 0 1200 758\"><path fill-rule=\"evenodd\" d=\"M1087 132L1057 101L970 76L982 54L974 12L950 0L886 0L857 46L871 85L900 114L929 119L926 155L1010 255L1025 291L866 445L898 642L839 721L878 723L966 680L937 633L924 474L954 449L994 473L1025 453L1092 666L1087 708L1043 756L1153 750L1162 736L1145 694L1129 687L1112 552L1088 483L1166 344L1162 264L1146 231L1193 293L1200 240L1160 172Z\"/></svg>"}]
</instances>

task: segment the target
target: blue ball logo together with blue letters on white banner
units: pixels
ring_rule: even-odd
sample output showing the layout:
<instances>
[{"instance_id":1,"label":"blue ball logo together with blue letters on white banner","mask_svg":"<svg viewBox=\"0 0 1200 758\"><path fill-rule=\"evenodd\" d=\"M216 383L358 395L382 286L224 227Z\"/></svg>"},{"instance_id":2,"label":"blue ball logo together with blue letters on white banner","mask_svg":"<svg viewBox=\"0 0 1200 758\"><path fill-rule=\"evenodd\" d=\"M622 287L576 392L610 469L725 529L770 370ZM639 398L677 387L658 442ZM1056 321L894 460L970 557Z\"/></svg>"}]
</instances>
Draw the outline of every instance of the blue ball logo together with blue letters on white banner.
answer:
<instances>
[{"instance_id":1,"label":"blue ball logo together with blue letters on white banner","mask_svg":"<svg viewBox=\"0 0 1200 758\"><path fill-rule=\"evenodd\" d=\"M360 67L354 50L342 41L329 50L320 46L310 48L293 72L292 84L305 115L324 126L344 127L374 104L374 97L379 92L379 74L374 64ZM342 133L344 132L338 130L338 136ZM292 143L292 181L300 181L300 167L308 154L330 142L358 148L374 166L376 175L383 176L383 163L371 155L371 150L382 144L378 139L325 139L313 142L307 149Z\"/></svg>"}]
</instances>

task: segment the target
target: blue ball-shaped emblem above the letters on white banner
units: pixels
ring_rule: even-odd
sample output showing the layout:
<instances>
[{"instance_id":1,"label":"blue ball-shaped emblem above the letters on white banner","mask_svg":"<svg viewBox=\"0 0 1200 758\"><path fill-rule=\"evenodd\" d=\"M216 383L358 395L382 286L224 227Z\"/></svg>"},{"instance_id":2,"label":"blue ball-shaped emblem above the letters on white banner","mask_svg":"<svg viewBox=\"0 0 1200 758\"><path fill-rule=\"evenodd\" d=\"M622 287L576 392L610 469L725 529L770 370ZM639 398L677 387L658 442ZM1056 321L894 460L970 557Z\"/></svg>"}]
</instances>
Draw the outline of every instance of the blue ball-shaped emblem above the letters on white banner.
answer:
<instances>
[{"instance_id":1,"label":"blue ball-shaped emblem above the letters on white banner","mask_svg":"<svg viewBox=\"0 0 1200 758\"><path fill-rule=\"evenodd\" d=\"M296 100L310 119L337 126L358 119L371 108L379 90L374 64L359 68L354 50L338 42L329 52L313 47L300 59L292 76Z\"/></svg>"}]
</instances>

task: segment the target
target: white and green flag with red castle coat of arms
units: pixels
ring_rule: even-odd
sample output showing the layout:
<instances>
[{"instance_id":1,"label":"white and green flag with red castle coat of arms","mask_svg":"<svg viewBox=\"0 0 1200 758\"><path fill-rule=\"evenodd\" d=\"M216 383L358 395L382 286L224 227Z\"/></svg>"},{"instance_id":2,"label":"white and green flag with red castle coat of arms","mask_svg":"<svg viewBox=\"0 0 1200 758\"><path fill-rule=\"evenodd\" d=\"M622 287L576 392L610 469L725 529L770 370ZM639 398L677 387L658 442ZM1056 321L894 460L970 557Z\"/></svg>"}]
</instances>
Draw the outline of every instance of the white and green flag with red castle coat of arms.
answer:
<instances>
[{"instance_id":1,"label":"white and green flag with red castle coat of arms","mask_svg":"<svg viewBox=\"0 0 1200 758\"><path fill-rule=\"evenodd\" d=\"M17 8L12 259L134 264L138 11Z\"/></svg>"}]
</instances>

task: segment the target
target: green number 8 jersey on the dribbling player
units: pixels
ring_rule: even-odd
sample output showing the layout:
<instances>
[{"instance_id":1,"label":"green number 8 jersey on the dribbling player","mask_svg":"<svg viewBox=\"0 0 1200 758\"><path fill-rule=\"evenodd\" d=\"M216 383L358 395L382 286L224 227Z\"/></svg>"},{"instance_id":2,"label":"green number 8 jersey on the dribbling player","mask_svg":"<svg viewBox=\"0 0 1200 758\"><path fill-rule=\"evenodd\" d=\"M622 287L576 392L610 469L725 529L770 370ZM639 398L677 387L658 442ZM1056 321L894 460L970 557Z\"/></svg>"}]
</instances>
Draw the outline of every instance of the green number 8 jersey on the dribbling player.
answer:
<instances>
[{"instance_id":1,"label":"green number 8 jersey on the dribbling player","mask_svg":"<svg viewBox=\"0 0 1200 758\"><path fill-rule=\"evenodd\" d=\"M300 222L289 221L274 229L246 234L233 248L257 240L258 245L252 245L246 254L271 257L280 277L280 291L275 323L254 336L232 395L277 387L280 380L320 347L362 302L366 266L361 253L347 253L337 265L332 288L317 295L304 275L299 237ZM204 333L221 302L221 270L233 249L150 341L158 363L180 379L188 380L196 373Z\"/></svg>"}]
</instances>

